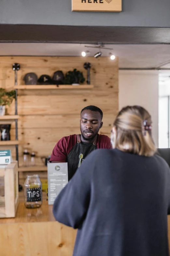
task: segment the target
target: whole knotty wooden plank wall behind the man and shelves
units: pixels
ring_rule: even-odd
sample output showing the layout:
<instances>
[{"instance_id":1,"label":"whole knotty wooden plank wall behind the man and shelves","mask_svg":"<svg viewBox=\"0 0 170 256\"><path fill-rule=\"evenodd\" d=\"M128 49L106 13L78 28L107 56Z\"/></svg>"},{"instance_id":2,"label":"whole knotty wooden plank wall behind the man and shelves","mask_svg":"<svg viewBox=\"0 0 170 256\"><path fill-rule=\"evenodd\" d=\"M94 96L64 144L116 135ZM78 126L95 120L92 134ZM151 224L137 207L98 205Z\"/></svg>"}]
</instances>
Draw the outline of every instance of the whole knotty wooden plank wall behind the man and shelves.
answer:
<instances>
[{"instance_id":1,"label":"whole knotty wooden plank wall behind the man and shelves","mask_svg":"<svg viewBox=\"0 0 170 256\"><path fill-rule=\"evenodd\" d=\"M101 134L110 134L111 124L118 111L118 58L111 61L108 57L0 57L0 87L9 89L14 86L13 63L20 63L18 85L24 84L23 77L28 72L52 76L57 70L66 73L77 68L87 77L84 62L92 63L92 90L28 90L18 92L19 119L19 155L22 164L22 152L25 148L34 151L40 157L51 154L56 142L63 136L79 133L79 117L82 108L96 105L104 113L104 125ZM37 85L38 87L38 85ZM8 108L14 114L14 102ZM11 139L15 138L14 124ZM2 147L1 147L2 148ZM4 149L4 148L3 148ZM15 159L15 147L11 146Z\"/></svg>"}]
</instances>

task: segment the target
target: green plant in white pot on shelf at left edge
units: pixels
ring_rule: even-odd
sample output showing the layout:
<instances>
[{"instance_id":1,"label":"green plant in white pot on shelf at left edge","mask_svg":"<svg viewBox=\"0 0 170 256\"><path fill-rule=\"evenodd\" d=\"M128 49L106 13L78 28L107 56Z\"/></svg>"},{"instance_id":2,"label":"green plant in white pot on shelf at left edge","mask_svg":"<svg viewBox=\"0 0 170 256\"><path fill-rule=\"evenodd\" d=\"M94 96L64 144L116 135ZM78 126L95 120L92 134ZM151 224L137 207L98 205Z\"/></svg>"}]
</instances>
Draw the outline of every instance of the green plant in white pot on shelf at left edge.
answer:
<instances>
[{"instance_id":1,"label":"green plant in white pot on shelf at left edge","mask_svg":"<svg viewBox=\"0 0 170 256\"><path fill-rule=\"evenodd\" d=\"M15 90L6 91L4 88L0 88L0 115L5 115L5 106L12 103L15 99Z\"/></svg>"}]
</instances>

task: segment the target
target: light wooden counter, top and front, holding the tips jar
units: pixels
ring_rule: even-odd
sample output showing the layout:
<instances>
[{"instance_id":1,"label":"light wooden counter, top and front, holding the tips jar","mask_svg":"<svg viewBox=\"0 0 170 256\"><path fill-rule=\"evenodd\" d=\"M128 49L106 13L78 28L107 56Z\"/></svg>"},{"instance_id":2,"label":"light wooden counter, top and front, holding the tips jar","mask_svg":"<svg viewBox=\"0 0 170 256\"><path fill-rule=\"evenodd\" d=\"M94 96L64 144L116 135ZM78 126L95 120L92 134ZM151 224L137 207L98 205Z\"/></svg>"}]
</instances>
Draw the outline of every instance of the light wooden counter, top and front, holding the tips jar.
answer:
<instances>
[{"instance_id":1,"label":"light wooden counter, top and front, holding the tips jar","mask_svg":"<svg viewBox=\"0 0 170 256\"><path fill-rule=\"evenodd\" d=\"M52 205L19 203L15 218L0 219L0 256L72 256L77 230L55 221Z\"/></svg>"}]
</instances>

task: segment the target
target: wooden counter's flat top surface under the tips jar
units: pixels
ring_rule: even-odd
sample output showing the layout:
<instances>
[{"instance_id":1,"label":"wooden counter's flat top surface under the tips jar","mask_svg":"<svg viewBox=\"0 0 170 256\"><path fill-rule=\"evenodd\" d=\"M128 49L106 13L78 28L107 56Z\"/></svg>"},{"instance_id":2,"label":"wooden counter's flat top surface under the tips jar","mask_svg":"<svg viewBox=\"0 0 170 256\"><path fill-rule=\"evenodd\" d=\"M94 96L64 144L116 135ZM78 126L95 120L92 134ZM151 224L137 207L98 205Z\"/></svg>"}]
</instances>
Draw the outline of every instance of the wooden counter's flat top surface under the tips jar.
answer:
<instances>
[{"instance_id":1,"label":"wooden counter's flat top surface under the tips jar","mask_svg":"<svg viewBox=\"0 0 170 256\"><path fill-rule=\"evenodd\" d=\"M29 222L48 222L55 221L52 214L52 205L48 201L43 201L40 208L28 209L24 203L19 203L15 218L1 218L1 224L29 223Z\"/></svg>"}]
</instances>

